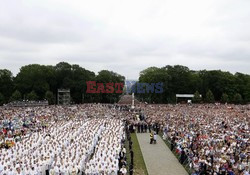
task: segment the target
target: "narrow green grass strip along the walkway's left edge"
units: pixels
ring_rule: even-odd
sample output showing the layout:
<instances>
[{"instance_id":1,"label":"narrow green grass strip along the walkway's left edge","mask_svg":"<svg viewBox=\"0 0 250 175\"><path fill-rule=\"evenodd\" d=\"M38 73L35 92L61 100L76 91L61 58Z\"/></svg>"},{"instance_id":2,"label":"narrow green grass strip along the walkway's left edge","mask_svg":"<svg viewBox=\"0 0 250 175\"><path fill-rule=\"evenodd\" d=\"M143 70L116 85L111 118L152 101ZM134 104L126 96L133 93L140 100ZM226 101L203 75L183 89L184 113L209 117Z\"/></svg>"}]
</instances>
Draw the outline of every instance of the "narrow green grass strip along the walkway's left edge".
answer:
<instances>
[{"instance_id":1,"label":"narrow green grass strip along the walkway's left edge","mask_svg":"<svg viewBox=\"0 0 250 175\"><path fill-rule=\"evenodd\" d=\"M135 175L148 175L148 171L142 156L141 148L138 143L135 133L131 134L134 151L134 174Z\"/></svg>"}]
</instances>

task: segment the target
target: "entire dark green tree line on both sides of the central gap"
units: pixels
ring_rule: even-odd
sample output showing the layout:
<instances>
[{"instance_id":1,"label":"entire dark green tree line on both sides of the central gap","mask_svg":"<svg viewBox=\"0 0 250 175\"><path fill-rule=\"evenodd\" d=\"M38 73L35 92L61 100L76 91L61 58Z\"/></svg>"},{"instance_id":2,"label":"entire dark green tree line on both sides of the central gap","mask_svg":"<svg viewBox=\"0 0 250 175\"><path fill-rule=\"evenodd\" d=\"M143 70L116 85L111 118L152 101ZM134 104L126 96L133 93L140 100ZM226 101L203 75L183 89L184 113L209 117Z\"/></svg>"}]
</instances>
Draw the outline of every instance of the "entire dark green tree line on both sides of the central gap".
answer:
<instances>
[{"instance_id":1,"label":"entire dark green tree line on both sides of the central gap","mask_svg":"<svg viewBox=\"0 0 250 175\"><path fill-rule=\"evenodd\" d=\"M58 89L70 89L73 103L115 103L121 94L86 93L86 81L124 83L125 77L101 70L98 74L79 65L60 62L55 66L30 64L21 67L13 76L7 69L0 70L0 105L17 100L44 100L56 103ZM140 83L163 83L163 93L137 93L148 103L175 103L176 94L194 94L195 103L249 103L250 75L221 70L190 70L175 65L149 67L140 72ZM136 86L136 84L135 84ZM200 96L201 95L201 96Z\"/></svg>"}]
</instances>

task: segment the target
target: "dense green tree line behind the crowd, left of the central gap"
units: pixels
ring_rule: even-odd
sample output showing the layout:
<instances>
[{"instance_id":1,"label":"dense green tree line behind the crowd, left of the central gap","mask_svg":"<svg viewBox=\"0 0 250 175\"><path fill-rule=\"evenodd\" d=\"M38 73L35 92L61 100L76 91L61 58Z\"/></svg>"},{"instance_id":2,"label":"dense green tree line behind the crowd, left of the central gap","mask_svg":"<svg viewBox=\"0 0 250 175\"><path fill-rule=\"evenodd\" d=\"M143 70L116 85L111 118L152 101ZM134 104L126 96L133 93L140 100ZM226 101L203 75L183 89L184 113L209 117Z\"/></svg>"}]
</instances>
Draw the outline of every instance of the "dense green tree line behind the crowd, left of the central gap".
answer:
<instances>
[{"instance_id":1,"label":"dense green tree line behind the crowd, left of the central gap","mask_svg":"<svg viewBox=\"0 0 250 175\"><path fill-rule=\"evenodd\" d=\"M98 74L79 65L60 62L55 66L30 64L21 67L13 76L7 69L0 70L0 105L19 100L48 100L56 103L58 89L70 89L73 103L114 103L121 94L88 94L86 81L124 83L125 77L101 70Z\"/></svg>"}]
</instances>

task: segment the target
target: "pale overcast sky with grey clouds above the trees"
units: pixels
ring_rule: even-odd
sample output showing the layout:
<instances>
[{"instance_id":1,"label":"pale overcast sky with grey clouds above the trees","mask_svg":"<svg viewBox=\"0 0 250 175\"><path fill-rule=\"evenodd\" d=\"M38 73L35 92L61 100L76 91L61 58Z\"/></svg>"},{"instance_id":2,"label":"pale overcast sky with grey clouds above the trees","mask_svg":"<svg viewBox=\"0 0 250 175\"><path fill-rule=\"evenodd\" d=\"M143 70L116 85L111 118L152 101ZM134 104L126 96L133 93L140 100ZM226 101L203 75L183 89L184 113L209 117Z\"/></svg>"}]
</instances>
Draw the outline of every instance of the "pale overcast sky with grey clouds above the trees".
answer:
<instances>
[{"instance_id":1,"label":"pale overcast sky with grey clouds above the trees","mask_svg":"<svg viewBox=\"0 0 250 175\"><path fill-rule=\"evenodd\" d=\"M0 69L61 61L250 74L250 0L0 0Z\"/></svg>"}]
</instances>

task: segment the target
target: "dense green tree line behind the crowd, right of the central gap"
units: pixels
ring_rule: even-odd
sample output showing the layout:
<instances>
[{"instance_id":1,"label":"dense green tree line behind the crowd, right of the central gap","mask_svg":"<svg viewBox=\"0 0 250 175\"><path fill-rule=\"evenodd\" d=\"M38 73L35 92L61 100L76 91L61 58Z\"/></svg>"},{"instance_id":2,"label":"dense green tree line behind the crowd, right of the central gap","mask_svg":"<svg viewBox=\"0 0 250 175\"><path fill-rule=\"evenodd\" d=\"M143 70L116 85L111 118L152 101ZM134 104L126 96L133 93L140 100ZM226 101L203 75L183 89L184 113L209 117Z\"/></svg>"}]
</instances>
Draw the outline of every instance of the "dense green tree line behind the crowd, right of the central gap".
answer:
<instances>
[{"instance_id":1,"label":"dense green tree line behind the crowd, right of the central gap","mask_svg":"<svg viewBox=\"0 0 250 175\"><path fill-rule=\"evenodd\" d=\"M250 75L221 70L190 70L175 65L149 67L140 72L140 83L164 83L163 94L136 94L148 103L175 103L176 94L194 94L193 102L249 103ZM201 95L201 96L200 96Z\"/></svg>"}]
</instances>

